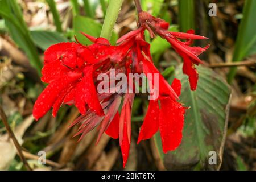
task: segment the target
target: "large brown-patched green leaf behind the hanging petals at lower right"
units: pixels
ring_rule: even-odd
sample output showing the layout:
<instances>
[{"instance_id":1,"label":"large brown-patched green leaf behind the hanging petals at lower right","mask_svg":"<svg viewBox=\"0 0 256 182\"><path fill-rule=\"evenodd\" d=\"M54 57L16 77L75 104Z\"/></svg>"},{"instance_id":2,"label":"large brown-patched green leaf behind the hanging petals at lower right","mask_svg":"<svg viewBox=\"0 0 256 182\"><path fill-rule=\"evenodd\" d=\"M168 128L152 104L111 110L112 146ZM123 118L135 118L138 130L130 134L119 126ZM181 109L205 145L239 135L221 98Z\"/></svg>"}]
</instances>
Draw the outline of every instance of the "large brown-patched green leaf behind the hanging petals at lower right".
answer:
<instances>
[{"instance_id":1,"label":"large brown-patched green leaf behind the hanging petals at lower right","mask_svg":"<svg viewBox=\"0 0 256 182\"><path fill-rule=\"evenodd\" d=\"M197 90L189 88L187 76L177 68L175 77L181 80L180 100L190 107L185 114L183 139L180 146L163 156L167 169L219 169L228 123L230 88L224 79L212 69L198 67ZM155 135L160 151L160 136ZM209 164L216 152L217 164Z\"/></svg>"}]
</instances>

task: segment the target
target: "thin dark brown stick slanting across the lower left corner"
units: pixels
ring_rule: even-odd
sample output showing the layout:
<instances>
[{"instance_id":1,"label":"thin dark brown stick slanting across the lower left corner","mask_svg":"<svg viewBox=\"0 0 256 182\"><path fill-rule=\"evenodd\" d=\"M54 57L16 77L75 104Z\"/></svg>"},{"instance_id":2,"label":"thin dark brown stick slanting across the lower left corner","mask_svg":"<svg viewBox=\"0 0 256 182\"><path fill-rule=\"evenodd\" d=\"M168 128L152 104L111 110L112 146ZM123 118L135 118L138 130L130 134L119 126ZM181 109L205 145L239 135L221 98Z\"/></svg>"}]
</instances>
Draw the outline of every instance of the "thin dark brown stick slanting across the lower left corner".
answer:
<instances>
[{"instance_id":1,"label":"thin dark brown stick slanting across the lower left corner","mask_svg":"<svg viewBox=\"0 0 256 182\"><path fill-rule=\"evenodd\" d=\"M24 155L22 153L22 147L20 146L18 140L16 139L16 137L13 133L13 130L11 130L11 127L10 127L9 123L7 122L7 117L6 117L5 111L3 111L1 106L0 106L0 115L1 115L1 118L2 118L2 121L3 121L3 124L6 127L6 131L9 135L9 137L13 140L13 143L14 143L16 149L17 149L17 153L18 153L20 159L22 160L22 162L23 162L24 166L27 168L27 170L32 171L31 167L27 163L27 160L26 160L26 158L24 157Z\"/></svg>"}]
</instances>

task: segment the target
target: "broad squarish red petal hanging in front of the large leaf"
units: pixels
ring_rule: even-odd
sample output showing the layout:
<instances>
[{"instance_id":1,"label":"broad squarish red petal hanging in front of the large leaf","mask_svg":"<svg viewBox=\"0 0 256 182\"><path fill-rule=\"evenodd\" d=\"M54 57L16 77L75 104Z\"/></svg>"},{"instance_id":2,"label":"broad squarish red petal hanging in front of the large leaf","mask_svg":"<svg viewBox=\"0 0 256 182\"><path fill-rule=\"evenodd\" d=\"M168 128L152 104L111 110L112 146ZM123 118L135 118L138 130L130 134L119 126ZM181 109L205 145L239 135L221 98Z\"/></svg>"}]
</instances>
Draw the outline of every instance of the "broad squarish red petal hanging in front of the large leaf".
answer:
<instances>
[{"instance_id":1,"label":"broad squarish red petal hanging in front of the large leaf","mask_svg":"<svg viewBox=\"0 0 256 182\"><path fill-rule=\"evenodd\" d=\"M182 138L185 109L171 98L161 100L159 130L162 138L163 152L175 150Z\"/></svg>"}]
</instances>

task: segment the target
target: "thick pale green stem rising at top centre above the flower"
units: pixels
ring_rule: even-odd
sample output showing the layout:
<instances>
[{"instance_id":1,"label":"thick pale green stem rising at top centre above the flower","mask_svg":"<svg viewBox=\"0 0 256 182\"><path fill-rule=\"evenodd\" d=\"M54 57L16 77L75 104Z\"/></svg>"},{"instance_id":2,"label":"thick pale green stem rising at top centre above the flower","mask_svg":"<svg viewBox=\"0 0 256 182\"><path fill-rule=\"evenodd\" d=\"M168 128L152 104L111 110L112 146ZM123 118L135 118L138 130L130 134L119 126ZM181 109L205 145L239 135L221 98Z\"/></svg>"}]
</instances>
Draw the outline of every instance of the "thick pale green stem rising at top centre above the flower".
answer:
<instances>
[{"instance_id":1,"label":"thick pale green stem rising at top centre above the flower","mask_svg":"<svg viewBox=\"0 0 256 182\"><path fill-rule=\"evenodd\" d=\"M106 16L104 19L103 27L101 30L101 37L110 39L114 24L117 21L119 11L121 10L123 0L110 0Z\"/></svg>"}]
</instances>

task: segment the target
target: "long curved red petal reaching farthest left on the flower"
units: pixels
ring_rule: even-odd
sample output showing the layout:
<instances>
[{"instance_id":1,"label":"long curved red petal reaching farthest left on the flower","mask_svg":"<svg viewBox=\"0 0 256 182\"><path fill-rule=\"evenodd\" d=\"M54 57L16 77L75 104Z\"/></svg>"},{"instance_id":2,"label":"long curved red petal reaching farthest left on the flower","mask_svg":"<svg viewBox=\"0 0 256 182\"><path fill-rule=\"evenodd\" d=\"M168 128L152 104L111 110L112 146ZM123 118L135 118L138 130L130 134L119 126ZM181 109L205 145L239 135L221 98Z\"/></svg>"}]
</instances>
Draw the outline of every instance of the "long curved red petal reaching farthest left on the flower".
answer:
<instances>
[{"instance_id":1,"label":"long curved red petal reaching farthest left on the flower","mask_svg":"<svg viewBox=\"0 0 256 182\"><path fill-rule=\"evenodd\" d=\"M36 120L43 117L44 114L47 113L54 102L59 97L59 93L61 90L67 88L69 84L73 81L78 80L81 77L81 73L70 72L66 75L63 75L59 80L51 82L46 89L38 97L36 100L34 108L33 108L33 115Z\"/></svg>"}]
</instances>

